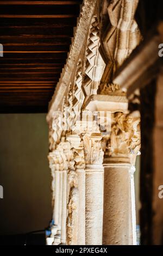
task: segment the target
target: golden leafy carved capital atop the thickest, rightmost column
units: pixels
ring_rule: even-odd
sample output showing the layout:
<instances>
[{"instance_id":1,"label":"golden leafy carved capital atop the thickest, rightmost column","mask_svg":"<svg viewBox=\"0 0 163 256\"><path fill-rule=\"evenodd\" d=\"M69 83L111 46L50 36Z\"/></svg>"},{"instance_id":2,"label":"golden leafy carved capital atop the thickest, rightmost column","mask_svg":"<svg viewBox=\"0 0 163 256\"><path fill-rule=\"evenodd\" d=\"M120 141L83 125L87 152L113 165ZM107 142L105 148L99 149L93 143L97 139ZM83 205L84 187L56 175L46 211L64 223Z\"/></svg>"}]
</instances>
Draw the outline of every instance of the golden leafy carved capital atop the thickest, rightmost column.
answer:
<instances>
[{"instance_id":1,"label":"golden leafy carved capital atop the thickest, rightmost column","mask_svg":"<svg viewBox=\"0 0 163 256\"><path fill-rule=\"evenodd\" d=\"M134 166L140 150L139 115L121 112L112 114L111 133L108 137L103 137L102 147L105 156L118 157L120 161L128 159Z\"/></svg>"}]
</instances>

